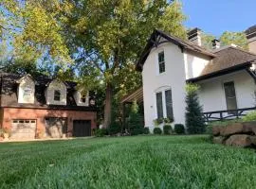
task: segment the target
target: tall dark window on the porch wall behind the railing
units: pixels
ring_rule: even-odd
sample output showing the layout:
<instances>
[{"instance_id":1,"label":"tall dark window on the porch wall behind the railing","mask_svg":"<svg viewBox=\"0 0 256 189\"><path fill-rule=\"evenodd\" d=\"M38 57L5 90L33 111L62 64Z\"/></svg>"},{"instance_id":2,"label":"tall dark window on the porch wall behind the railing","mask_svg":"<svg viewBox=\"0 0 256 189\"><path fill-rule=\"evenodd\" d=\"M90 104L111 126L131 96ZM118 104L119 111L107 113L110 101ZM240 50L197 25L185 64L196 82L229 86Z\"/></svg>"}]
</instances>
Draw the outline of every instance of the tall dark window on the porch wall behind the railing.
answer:
<instances>
[{"instance_id":1,"label":"tall dark window on the porch wall behind the railing","mask_svg":"<svg viewBox=\"0 0 256 189\"><path fill-rule=\"evenodd\" d=\"M230 81L230 82L224 83L224 90L226 95L227 109L236 110L237 102L236 102L234 82ZM232 112L229 112L229 114L232 114Z\"/></svg>"}]
</instances>

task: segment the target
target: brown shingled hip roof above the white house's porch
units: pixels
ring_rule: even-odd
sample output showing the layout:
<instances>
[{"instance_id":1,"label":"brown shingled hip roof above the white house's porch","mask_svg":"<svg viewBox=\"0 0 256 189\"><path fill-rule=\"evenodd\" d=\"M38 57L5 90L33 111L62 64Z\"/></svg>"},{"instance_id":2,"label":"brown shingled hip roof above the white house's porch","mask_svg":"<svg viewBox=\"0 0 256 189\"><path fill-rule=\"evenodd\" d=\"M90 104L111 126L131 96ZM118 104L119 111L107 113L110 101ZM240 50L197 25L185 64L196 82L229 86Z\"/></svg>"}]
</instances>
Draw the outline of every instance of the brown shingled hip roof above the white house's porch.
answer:
<instances>
[{"instance_id":1,"label":"brown shingled hip roof above the white house's porch","mask_svg":"<svg viewBox=\"0 0 256 189\"><path fill-rule=\"evenodd\" d=\"M229 72L244 69L256 60L256 55L239 47L228 46L214 53L212 59L204 68L199 77L193 77L187 81L195 82L210 77L221 76Z\"/></svg>"}]
</instances>

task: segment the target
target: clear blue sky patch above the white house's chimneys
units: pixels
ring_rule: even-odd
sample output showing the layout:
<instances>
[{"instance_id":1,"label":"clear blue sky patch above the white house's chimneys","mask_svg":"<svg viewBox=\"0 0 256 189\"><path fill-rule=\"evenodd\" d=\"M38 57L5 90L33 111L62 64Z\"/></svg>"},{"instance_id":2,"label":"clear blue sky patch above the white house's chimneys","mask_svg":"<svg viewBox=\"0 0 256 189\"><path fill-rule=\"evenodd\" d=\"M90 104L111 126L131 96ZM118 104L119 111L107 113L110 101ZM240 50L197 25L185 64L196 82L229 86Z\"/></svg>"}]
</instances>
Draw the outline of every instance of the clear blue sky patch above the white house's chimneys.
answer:
<instances>
[{"instance_id":1,"label":"clear blue sky patch above the white house's chimneys","mask_svg":"<svg viewBox=\"0 0 256 189\"><path fill-rule=\"evenodd\" d=\"M199 27L219 37L256 25L256 0L182 0L185 26Z\"/></svg>"}]
</instances>

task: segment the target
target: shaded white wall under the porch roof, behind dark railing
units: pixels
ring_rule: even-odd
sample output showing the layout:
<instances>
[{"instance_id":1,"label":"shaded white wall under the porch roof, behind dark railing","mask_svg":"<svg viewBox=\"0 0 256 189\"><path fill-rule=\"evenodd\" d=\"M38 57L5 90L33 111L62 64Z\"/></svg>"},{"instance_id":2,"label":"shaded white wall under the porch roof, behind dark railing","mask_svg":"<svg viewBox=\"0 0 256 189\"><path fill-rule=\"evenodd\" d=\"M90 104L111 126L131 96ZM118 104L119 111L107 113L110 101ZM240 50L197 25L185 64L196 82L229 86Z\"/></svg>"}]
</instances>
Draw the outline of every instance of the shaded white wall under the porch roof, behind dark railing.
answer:
<instances>
[{"instance_id":1,"label":"shaded white wall under the porch roof, behind dark railing","mask_svg":"<svg viewBox=\"0 0 256 189\"><path fill-rule=\"evenodd\" d=\"M256 105L254 80L246 71L239 71L229 75L214 77L199 82L201 89L199 100L204 112L226 111L227 103L223 84L233 81L235 86L237 108L251 108Z\"/></svg>"}]
</instances>

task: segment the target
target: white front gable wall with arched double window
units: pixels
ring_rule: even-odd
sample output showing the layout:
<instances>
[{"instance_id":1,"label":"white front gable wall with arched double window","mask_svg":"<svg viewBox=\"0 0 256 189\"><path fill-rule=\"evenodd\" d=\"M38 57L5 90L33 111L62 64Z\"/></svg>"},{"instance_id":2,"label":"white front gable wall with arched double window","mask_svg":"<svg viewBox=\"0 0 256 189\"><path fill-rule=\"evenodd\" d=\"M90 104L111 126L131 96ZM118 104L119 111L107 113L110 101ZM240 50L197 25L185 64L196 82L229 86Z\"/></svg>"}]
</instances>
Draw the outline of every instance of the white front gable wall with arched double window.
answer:
<instances>
[{"instance_id":1,"label":"white front gable wall with arched double window","mask_svg":"<svg viewBox=\"0 0 256 189\"><path fill-rule=\"evenodd\" d=\"M158 74L158 53L164 50L165 72ZM163 43L154 48L144 63L142 71L145 127L154 129L157 118L155 93L172 89L174 123L185 124L185 65L181 49L173 43ZM163 104L165 94L163 93ZM164 117L166 109L163 106Z\"/></svg>"}]
</instances>

